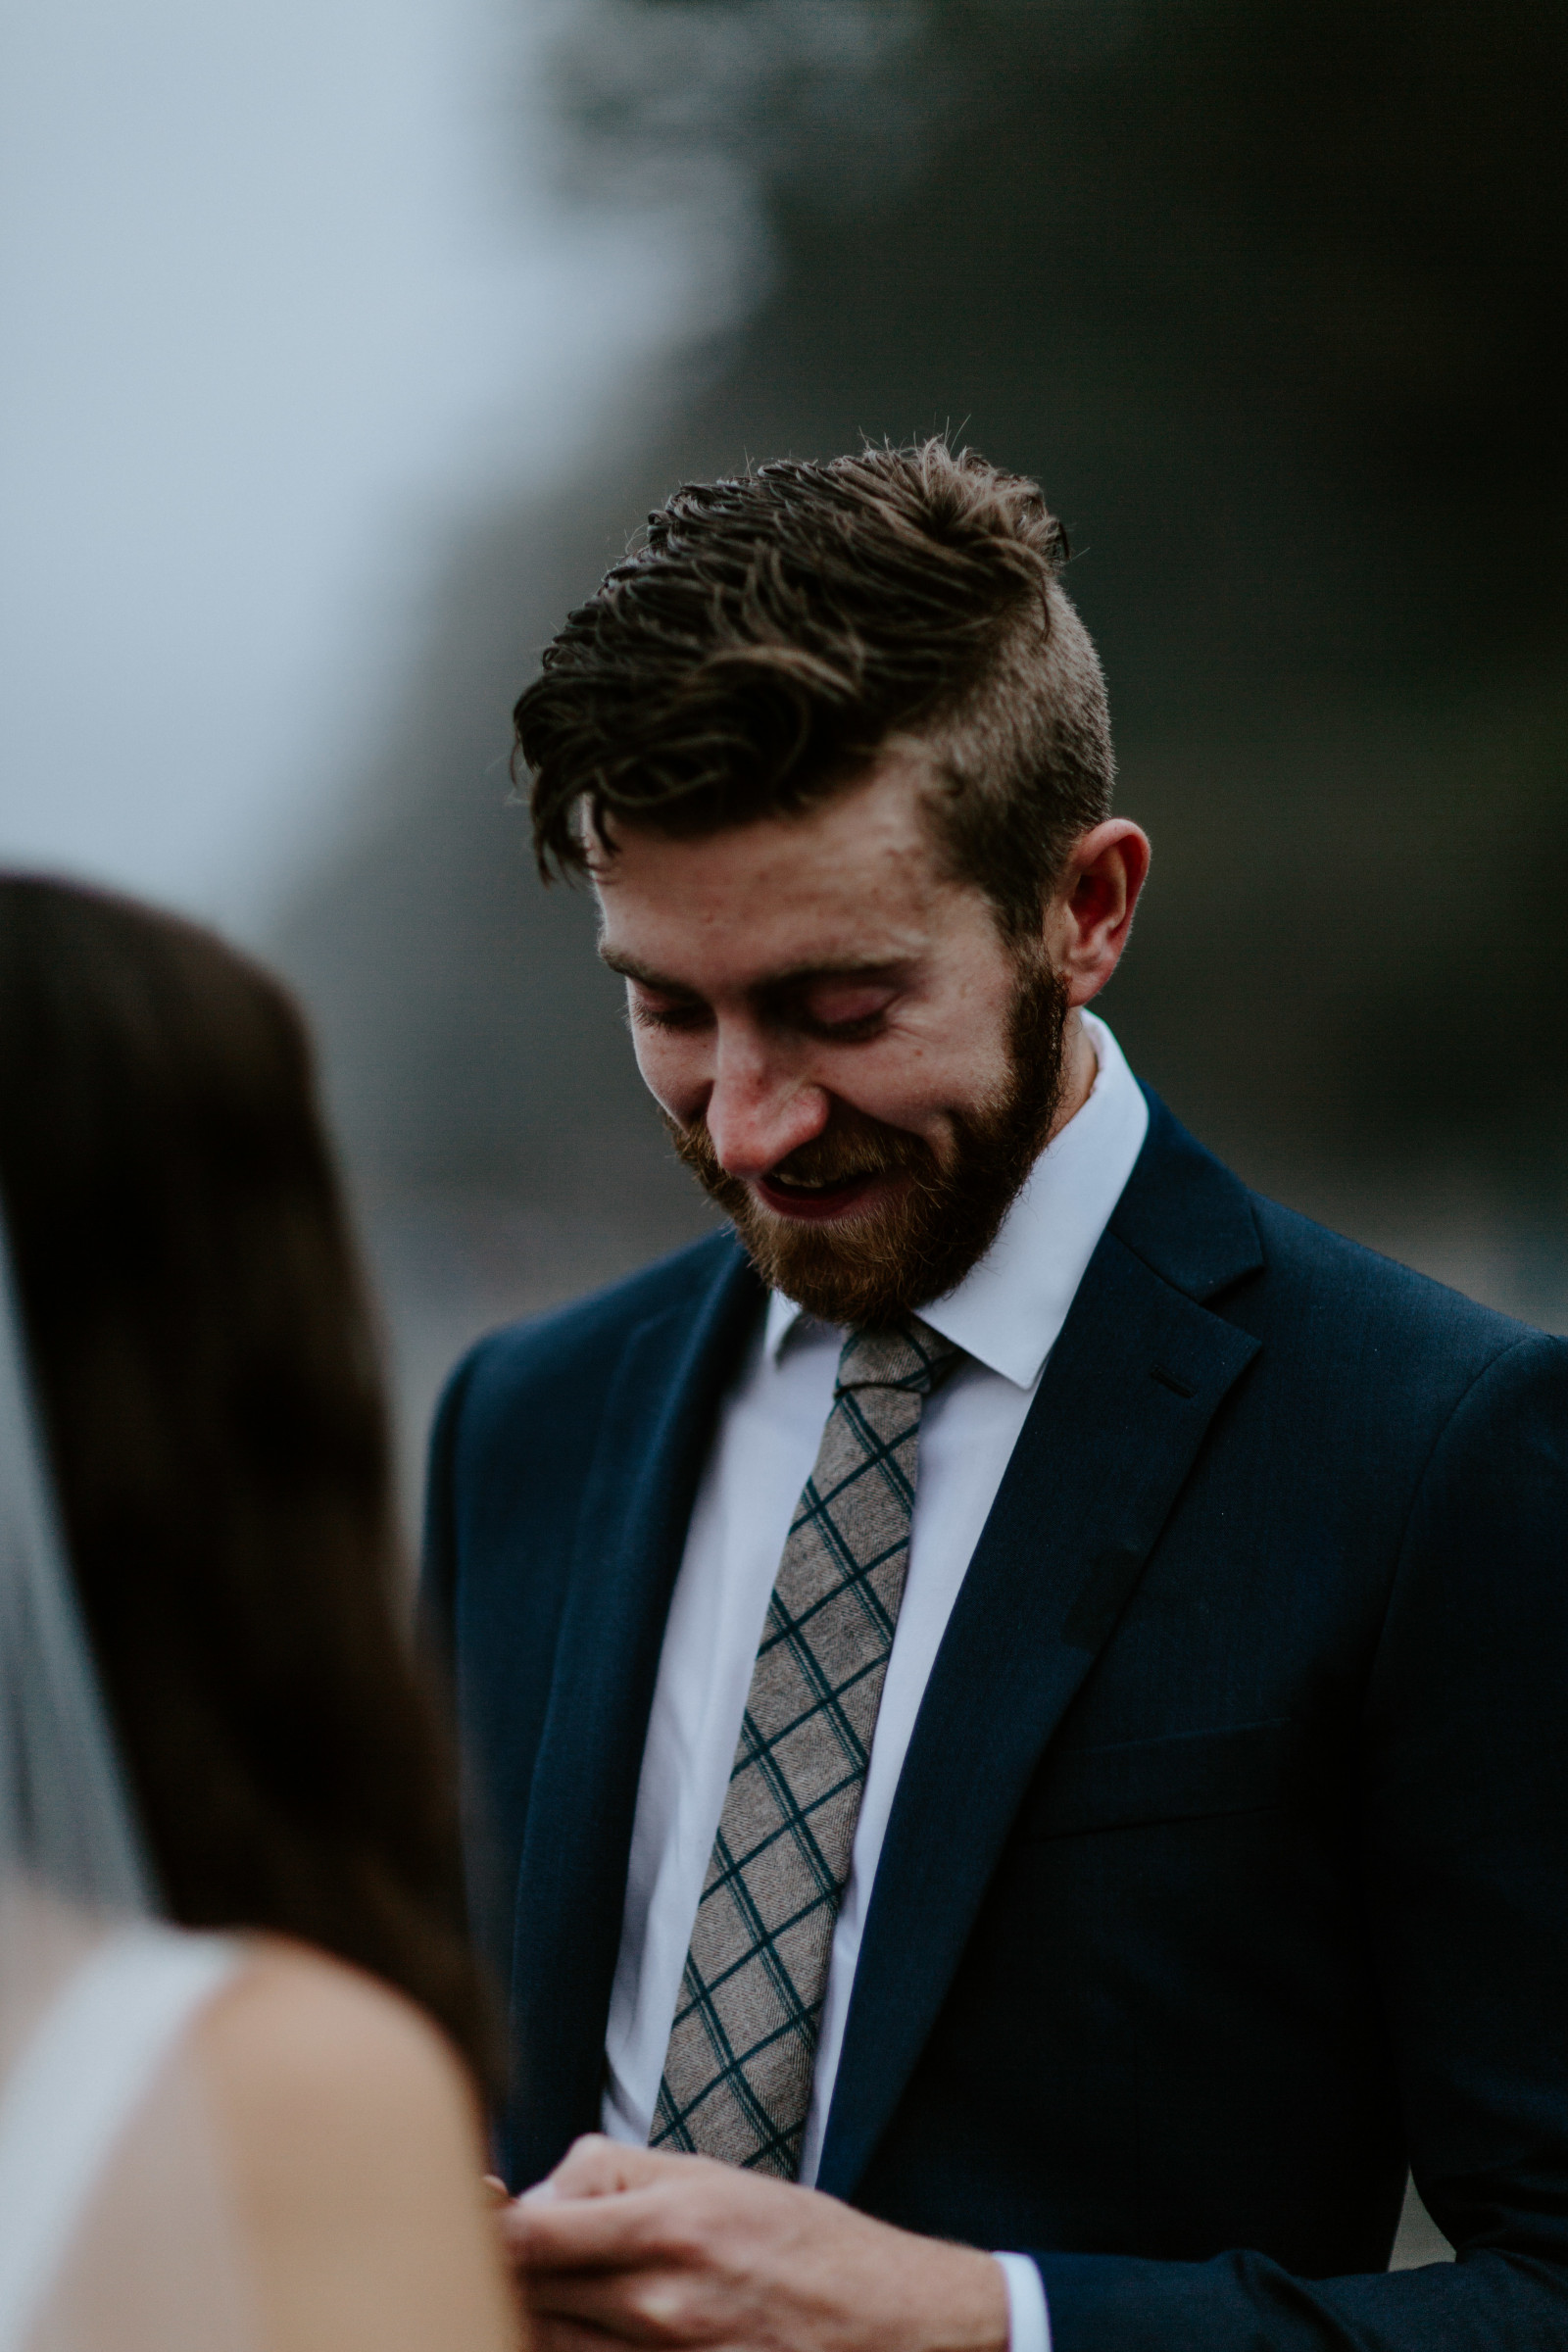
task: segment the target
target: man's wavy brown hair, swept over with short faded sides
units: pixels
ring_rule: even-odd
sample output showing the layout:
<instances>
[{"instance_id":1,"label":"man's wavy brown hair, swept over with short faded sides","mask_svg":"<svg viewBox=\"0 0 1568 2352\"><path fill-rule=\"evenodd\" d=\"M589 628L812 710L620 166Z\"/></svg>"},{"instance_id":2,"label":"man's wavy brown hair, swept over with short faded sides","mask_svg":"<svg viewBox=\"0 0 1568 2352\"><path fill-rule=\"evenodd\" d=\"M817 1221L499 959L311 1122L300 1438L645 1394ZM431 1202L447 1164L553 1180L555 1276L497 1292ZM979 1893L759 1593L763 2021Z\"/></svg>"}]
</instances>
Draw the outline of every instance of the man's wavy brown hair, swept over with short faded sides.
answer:
<instances>
[{"instance_id":1,"label":"man's wavy brown hair, swept over with short faded sides","mask_svg":"<svg viewBox=\"0 0 1568 2352\"><path fill-rule=\"evenodd\" d=\"M1110 811L1105 677L1039 485L945 440L689 482L515 710L545 880L607 818L675 835L806 809L898 736L952 873L1009 936Z\"/></svg>"}]
</instances>

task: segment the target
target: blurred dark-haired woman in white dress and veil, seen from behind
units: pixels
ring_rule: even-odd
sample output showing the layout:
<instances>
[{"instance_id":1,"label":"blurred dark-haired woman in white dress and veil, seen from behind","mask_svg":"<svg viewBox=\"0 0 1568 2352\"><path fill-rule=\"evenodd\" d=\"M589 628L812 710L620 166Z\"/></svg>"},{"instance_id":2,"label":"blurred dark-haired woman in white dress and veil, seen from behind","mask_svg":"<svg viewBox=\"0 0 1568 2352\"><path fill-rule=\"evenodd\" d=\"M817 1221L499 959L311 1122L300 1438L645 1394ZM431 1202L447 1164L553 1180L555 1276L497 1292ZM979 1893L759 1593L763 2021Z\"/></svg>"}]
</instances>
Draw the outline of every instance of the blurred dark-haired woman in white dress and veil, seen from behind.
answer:
<instances>
[{"instance_id":1,"label":"blurred dark-haired woman in white dress and veil, seen from behind","mask_svg":"<svg viewBox=\"0 0 1568 2352\"><path fill-rule=\"evenodd\" d=\"M282 990L0 877L0 2352L498 2352L451 1769Z\"/></svg>"}]
</instances>

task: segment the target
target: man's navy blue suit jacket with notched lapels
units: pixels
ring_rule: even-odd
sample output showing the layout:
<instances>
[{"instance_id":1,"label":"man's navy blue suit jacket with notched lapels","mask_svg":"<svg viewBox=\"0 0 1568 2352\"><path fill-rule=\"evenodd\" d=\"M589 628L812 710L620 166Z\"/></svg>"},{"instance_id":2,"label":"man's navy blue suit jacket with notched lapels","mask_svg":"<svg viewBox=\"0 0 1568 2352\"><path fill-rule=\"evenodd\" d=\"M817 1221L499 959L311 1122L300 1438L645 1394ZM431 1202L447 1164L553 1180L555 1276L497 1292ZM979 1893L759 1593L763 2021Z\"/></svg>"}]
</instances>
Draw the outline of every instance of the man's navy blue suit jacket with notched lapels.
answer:
<instances>
[{"instance_id":1,"label":"man's navy blue suit jacket with notched lapels","mask_svg":"<svg viewBox=\"0 0 1568 2352\"><path fill-rule=\"evenodd\" d=\"M729 1235L501 1331L433 1456L515 2185L595 2129ZM1154 1103L882 1851L820 2187L1039 2258L1058 2352L1568 2345L1568 1345ZM1406 2159L1460 2251L1382 2274Z\"/></svg>"}]
</instances>

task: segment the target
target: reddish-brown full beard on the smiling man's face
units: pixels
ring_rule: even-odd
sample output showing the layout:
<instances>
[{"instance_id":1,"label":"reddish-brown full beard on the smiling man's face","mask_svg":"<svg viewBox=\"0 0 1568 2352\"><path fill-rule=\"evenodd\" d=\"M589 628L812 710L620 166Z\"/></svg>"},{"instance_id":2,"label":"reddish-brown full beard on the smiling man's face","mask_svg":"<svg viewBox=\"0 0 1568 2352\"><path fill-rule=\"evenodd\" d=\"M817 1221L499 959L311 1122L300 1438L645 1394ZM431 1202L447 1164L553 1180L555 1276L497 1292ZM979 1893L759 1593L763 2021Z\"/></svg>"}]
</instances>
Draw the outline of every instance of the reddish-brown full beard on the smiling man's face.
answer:
<instances>
[{"instance_id":1,"label":"reddish-brown full beard on the smiling man's face","mask_svg":"<svg viewBox=\"0 0 1568 2352\"><path fill-rule=\"evenodd\" d=\"M1063 1098L1067 990L1048 964L1020 974L1009 1016L1009 1075L976 1110L952 1115L952 1155L903 1127L837 1105L827 1127L778 1171L797 1183L903 1178L893 1197L832 1223L776 1216L726 1176L703 1120L665 1117L677 1155L733 1221L769 1289L818 1322L879 1329L954 1291L997 1240L1039 1160Z\"/></svg>"}]
</instances>

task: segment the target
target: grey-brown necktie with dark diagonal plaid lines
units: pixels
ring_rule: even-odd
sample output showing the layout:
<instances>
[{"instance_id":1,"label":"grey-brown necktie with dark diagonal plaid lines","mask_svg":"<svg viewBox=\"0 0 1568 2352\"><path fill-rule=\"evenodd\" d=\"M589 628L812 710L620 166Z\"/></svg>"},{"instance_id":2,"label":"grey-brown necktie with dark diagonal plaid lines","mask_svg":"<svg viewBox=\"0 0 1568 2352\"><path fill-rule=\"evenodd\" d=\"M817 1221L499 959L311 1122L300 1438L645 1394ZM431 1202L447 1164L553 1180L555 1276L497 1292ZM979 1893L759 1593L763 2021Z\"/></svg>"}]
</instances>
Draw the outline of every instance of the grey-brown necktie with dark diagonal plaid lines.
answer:
<instances>
[{"instance_id":1,"label":"grey-brown necktie with dark diagonal plaid lines","mask_svg":"<svg viewBox=\"0 0 1568 2352\"><path fill-rule=\"evenodd\" d=\"M832 1929L903 1581L919 1416L959 1350L851 1331L795 1508L682 1976L654 2147L799 2171Z\"/></svg>"}]
</instances>

